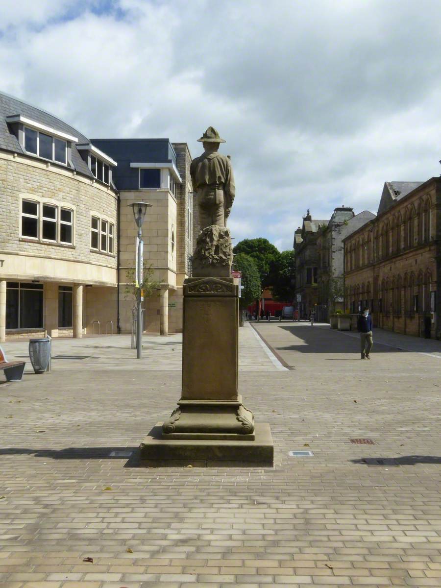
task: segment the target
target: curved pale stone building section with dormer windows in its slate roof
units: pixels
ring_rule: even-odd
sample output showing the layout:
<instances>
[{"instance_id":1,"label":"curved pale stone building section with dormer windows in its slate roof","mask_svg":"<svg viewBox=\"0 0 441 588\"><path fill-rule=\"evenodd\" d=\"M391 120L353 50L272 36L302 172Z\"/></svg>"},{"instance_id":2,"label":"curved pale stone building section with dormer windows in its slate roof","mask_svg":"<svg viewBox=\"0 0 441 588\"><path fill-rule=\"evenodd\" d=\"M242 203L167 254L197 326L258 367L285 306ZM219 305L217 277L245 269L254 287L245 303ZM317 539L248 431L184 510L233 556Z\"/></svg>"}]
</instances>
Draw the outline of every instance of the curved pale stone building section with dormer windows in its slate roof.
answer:
<instances>
[{"instance_id":1,"label":"curved pale stone building section with dormer windows in its slate roof","mask_svg":"<svg viewBox=\"0 0 441 588\"><path fill-rule=\"evenodd\" d=\"M115 167L70 125L0 93L0 340L116 328Z\"/></svg>"}]
</instances>

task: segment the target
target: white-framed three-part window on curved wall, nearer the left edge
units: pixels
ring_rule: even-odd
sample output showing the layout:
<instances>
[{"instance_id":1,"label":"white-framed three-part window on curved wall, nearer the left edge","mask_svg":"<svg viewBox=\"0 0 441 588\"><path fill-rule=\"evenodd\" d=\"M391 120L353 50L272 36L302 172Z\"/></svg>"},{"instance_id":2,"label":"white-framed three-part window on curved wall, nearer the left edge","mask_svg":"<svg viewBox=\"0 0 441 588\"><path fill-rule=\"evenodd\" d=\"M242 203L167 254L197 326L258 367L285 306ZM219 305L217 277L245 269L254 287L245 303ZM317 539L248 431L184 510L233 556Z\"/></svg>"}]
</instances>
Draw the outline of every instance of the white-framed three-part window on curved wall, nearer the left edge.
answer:
<instances>
[{"instance_id":1,"label":"white-framed three-part window on curved wall, nearer the left edge","mask_svg":"<svg viewBox=\"0 0 441 588\"><path fill-rule=\"evenodd\" d=\"M22 199L21 233L44 243L74 244L74 210L53 202Z\"/></svg>"}]
</instances>

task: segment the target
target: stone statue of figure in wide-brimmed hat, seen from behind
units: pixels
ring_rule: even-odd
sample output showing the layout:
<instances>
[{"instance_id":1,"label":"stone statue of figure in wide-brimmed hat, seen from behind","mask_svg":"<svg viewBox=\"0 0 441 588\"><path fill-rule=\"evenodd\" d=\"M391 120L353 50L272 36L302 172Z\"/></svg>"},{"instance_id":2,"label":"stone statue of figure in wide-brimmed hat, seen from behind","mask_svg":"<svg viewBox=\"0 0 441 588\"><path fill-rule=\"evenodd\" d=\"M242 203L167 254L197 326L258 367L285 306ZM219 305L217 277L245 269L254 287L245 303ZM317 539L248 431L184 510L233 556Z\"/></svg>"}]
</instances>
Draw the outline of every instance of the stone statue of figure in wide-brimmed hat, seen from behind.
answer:
<instances>
[{"instance_id":1,"label":"stone statue of figure in wide-brimmed hat, seen from behind","mask_svg":"<svg viewBox=\"0 0 441 588\"><path fill-rule=\"evenodd\" d=\"M198 141L203 144L204 153L193 159L190 175L198 195L199 226L201 230L211 225L225 227L235 196L230 160L218 153L220 143L225 141L212 126Z\"/></svg>"}]
</instances>

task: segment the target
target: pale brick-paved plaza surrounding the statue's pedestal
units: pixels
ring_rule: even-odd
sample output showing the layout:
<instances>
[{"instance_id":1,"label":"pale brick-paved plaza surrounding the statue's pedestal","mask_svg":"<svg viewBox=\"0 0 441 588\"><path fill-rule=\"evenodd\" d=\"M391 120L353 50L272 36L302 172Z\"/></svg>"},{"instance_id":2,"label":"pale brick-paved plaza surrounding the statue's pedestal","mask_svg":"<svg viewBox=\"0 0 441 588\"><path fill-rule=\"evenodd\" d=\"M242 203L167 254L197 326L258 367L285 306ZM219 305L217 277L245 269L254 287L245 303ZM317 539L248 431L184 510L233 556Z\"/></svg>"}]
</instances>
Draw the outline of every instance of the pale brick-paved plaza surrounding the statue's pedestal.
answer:
<instances>
[{"instance_id":1,"label":"pale brick-paved plaza surrounding the statue's pedestal","mask_svg":"<svg viewBox=\"0 0 441 588\"><path fill-rule=\"evenodd\" d=\"M180 336L146 337L138 362L123 336L58 340L71 359L52 374L0 385L0 588L441 586L441 343L377 330L362 362L353 333L257 329L291 368L240 329L240 389L270 423L274 469L110 456L171 413Z\"/></svg>"}]
</instances>

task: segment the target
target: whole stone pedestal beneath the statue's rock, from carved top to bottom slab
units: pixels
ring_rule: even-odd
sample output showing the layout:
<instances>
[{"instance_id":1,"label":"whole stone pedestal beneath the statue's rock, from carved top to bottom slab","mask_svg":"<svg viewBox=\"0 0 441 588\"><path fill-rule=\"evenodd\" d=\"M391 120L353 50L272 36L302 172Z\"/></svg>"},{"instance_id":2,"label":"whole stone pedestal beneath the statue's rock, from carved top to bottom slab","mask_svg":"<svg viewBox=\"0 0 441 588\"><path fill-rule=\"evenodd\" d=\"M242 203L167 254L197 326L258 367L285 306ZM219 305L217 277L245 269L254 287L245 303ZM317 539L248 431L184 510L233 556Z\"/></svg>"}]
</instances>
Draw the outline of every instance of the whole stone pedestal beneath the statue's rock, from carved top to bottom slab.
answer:
<instances>
[{"instance_id":1,"label":"whole stone pedestal beneath the statue's rock, from carved top to bottom slab","mask_svg":"<svg viewBox=\"0 0 441 588\"><path fill-rule=\"evenodd\" d=\"M255 426L238 393L238 286L188 278L183 295L182 396L141 443L142 463L272 466L269 425Z\"/></svg>"}]
</instances>

